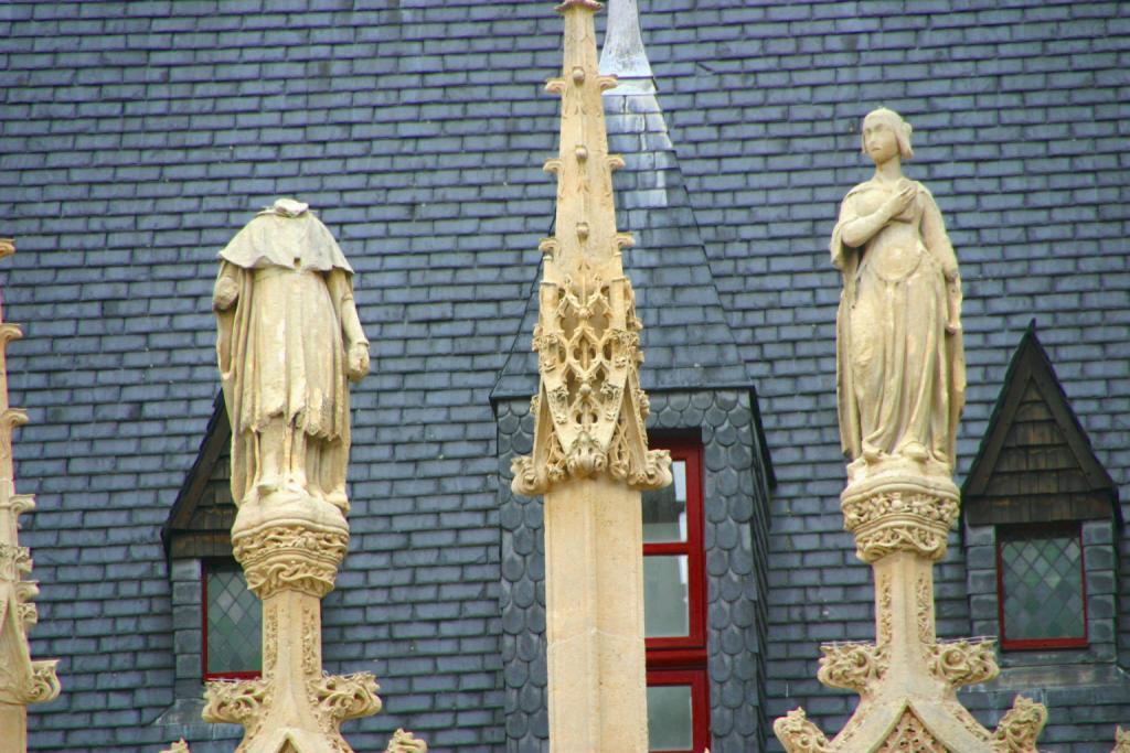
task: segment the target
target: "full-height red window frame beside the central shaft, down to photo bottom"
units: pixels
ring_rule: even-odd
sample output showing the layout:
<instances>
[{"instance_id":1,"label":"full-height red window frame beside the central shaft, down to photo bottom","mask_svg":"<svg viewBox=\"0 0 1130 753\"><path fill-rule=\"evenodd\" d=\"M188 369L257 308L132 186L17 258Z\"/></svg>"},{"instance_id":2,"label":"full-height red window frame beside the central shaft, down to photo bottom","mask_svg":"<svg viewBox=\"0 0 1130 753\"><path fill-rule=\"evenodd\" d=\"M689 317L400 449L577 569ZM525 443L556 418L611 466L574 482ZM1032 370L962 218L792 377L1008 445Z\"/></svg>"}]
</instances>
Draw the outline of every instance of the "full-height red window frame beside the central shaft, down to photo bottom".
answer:
<instances>
[{"instance_id":1,"label":"full-height red window frame beside the central shaft, down to photo bottom","mask_svg":"<svg viewBox=\"0 0 1130 753\"><path fill-rule=\"evenodd\" d=\"M684 542L643 545L643 555L687 557L687 634L644 640L649 685L689 685L693 750L710 745L710 677L706 671L706 552L703 544L703 447L697 440L657 440L687 469L687 536Z\"/></svg>"}]
</instances>

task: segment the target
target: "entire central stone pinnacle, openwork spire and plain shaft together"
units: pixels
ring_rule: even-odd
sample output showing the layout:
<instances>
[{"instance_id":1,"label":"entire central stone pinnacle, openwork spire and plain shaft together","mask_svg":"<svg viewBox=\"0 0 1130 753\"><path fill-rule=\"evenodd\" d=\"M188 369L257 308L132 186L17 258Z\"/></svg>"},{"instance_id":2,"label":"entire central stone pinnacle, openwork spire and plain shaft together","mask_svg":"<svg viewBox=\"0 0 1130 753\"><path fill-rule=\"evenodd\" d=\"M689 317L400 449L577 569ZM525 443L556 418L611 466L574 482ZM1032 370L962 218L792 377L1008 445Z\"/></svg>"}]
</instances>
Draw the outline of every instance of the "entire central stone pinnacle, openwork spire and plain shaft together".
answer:
<instances>
[{"instance_id":1,"label":"entire central stone pinnacle, openwork spire and plain shaft together","mask_svg":"<svg viewBox=\"0 0 1130 753\"><path fill-rule=\"evenodd\" d=\"M533 453L515 458L515 494L545 496L549 745L555 753L647 750L641 490L671 482L649 450L640 388L642 324L624 274L591 0L565 17L556 235L533 333L540 387Z\"/></svg>"}]
</instances>

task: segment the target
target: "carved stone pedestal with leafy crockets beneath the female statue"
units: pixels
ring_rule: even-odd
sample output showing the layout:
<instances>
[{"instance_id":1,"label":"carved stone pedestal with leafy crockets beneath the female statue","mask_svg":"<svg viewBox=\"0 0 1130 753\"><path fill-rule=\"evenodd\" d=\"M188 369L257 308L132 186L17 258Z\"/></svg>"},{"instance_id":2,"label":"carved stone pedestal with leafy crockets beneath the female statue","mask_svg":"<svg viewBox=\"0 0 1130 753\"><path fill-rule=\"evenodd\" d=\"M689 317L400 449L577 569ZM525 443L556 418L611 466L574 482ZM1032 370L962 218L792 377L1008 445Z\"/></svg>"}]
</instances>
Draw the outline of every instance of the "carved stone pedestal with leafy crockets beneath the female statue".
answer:
<instances>
[{"instance_id":1,"label":"carved stone pedestal with leafy crockets beneath the female statue","mask_svg":"<svg viewBox=\"0 0 1130 753\"><path fill-rule=\"evenodd\" d=\"M860 702L832 741L801 709L776 720L777 738L789 753L1035 753L1042 704L1017 697L990 733L957 700L958 688L997 676L993 641L937 639L933 563L959 509L948 469L857 463L849 479L844 527L875 572L876 641L822 646L818 677Z\"/></svg>"}]
</instances>

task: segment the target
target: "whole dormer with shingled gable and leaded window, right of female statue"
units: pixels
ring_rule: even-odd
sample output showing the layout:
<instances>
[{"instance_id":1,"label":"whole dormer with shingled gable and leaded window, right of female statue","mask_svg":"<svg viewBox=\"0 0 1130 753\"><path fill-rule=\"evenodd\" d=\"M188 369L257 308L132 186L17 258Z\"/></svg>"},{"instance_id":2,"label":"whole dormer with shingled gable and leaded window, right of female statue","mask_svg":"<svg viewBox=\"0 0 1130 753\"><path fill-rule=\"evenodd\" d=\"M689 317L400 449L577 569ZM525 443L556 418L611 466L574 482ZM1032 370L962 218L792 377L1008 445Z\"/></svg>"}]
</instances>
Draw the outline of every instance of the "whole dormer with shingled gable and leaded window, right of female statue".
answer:
<instances>
[{"instance_id":1,"label":"whole dormer with shingled gable and leaded window, right of female statue","mask_svg":"<svg viewBox=\"0 0 1130 753\"><path fill-rule=\"evenodd\" d=\"M1028 327L963 489L974 632L1002 666L1113 663L1118 490Z\"/></svg>"}]
</instances>

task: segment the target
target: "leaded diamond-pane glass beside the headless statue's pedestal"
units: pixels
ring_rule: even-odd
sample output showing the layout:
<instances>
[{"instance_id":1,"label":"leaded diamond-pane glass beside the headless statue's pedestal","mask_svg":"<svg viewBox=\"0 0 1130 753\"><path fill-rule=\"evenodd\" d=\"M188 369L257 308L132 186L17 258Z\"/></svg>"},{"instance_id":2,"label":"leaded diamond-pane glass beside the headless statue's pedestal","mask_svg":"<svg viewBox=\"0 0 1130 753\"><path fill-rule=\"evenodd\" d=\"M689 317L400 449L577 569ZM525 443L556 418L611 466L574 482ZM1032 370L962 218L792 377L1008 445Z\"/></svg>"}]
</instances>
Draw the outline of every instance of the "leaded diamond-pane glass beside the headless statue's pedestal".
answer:
<instances>
[{"instance_id":1,"label":"leaded diamond-pane glass beside the headless statue's pedestal","mask_svg":"<svg viewBox=\"0 0 1130 753\"><path fill-rule=\"evenodd\" d=\"M207 599L207 673L259 672L262 608L243 570L234 562L209 563Z\"/></svg>"}]
</instances>

